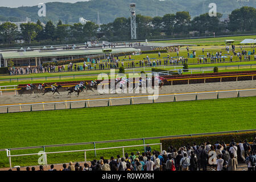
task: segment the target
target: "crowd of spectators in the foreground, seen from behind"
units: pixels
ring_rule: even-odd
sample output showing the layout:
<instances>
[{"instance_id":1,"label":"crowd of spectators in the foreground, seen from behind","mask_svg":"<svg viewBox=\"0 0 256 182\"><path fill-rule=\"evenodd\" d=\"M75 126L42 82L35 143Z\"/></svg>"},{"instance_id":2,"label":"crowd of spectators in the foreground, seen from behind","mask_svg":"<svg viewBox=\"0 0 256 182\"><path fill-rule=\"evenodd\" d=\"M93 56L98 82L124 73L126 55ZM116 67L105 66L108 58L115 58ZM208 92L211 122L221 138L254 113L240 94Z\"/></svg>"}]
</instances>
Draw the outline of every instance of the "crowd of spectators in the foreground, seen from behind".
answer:
<instances>
[{"instance_id":1,"label":"crowd of spectators in the foreground, seen from behind","mask_svg":"<svg viewBox=\"0 0 256 182\"><path fill-rule=\"evenodd\" d=\"M117 155L110 160L101 156L100 160L94 159L80 166L79 163L73 165L63 164L60 171L237 171L238 161L247 164L248 171L255 170L256 163L256 137L252 144L246 140L232 140L229 144L225 142L205 142L197 145L187 144L176 148L168 147L167 151L151 151L151 147L145 147L142 154L125 154L123 158ZM17 168L19 171L20 168ZM35 168L27 167L27 171L35 171ZM44 167L40 166L40 171ZM49 171L56 171L53 165Z\"/></svg>"}]
</instances>

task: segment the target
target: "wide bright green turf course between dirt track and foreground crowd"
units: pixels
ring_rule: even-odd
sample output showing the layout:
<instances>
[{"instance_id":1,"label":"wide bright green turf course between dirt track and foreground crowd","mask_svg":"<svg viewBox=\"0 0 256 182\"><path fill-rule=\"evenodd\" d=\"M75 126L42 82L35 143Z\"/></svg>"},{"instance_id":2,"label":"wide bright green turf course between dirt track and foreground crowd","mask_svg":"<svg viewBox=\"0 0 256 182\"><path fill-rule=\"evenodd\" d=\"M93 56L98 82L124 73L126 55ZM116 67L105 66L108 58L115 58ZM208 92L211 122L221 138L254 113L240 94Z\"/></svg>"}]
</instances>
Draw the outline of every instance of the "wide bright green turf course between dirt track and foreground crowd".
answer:
<instances>
[{"instance_id":1,"label":"wide bright green turf course between dirt track and foreground crowd","mask_svg":"<svg viewBox=\"0 0 256 182\"><path fill-rule=\"evenodd\" d=\"M1 114L0 148L254 129L255 102L256 97L246 97ZM142 144L142 141L97 144L97 148L129 144ZM47 148L47 151L85 148L93 148L93 145ZM142 150L142 147L133 150ZM11 151L11 154L39 151L40 148ZM116 156L122 155L122 150L97 151L97 154L97 158L100 155ZM27 156L12 161L13 165L27 166L37 164L38 158ZM84 160L82 152L48 155L47 158L48 163ZM88 156L88 159L92 158L93 152ZM9 166L8 159L6 152L1 152L0 167L4 166Z\"/></svg>"}]
</instances>

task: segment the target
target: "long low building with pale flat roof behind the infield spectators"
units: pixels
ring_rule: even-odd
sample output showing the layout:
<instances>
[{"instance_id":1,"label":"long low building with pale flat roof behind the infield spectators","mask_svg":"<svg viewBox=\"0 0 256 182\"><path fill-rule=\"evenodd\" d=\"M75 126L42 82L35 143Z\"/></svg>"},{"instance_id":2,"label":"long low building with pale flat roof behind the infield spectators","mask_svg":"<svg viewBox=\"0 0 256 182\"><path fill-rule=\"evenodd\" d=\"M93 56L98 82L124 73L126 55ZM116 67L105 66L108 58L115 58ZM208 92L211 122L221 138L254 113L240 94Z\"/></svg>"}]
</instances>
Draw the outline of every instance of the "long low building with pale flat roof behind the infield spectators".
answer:
<instances>
[{"instance_id":1,"label":"long low building with pale flat roof behind the infield spectators","mask_svg":"<svg viewBox=\"0 0 256 182\"><path fill-rule=\"evenodd\" d=\"M140 49L136 48L113 48L111 49L112 54L119 53L132 53L140 52ZM13 61L14 67L27 67L39 66L43 63L61 61L61 60L73 60L86 58L91 56L104 56L106 51L103 48L98 49L81 49L81 48L71 48L68 49L57 49L44 47L43 49L31 49L31 48L20 48L17 50L4 50L0 52L0 67L7 67L10 61Z\"/></svg>"}]
</instances>

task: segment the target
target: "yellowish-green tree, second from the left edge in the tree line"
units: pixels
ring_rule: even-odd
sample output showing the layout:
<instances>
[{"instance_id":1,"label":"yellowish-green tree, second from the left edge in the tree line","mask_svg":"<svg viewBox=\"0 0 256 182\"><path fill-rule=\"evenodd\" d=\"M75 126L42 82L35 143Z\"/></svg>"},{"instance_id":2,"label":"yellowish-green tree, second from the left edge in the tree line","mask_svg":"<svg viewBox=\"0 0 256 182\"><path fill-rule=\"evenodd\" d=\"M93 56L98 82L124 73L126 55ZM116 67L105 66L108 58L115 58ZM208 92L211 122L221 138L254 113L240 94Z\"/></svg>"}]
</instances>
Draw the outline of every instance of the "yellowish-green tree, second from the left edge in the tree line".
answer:
<instances>
[{"instance_id":1,"label":"yellowish-green tree, second from the left edge in the tree line","mask_svg":"<svg viewBox=\"0 0 256 182\"><path fill-rule=\"evenodd\" d=\"M22 23L20 24L20 29L22 31L23 39L28 43L31 43L31 40L36 37L40 30L42 30L42 27L35 23Z\"/></svg>"}]
</instances>

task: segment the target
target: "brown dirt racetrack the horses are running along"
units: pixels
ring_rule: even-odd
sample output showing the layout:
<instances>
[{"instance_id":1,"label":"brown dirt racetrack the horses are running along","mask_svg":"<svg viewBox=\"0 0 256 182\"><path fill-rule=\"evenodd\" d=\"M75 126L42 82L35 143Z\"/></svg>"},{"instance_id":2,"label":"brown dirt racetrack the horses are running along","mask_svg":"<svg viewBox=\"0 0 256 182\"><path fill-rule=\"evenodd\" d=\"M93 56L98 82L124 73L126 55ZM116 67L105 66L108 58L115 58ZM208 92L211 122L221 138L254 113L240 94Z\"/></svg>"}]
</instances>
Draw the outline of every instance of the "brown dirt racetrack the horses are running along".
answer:
<instances>
[{"instance_id":1,"label":"brown dirt racetrack the horses are running along","mask_svg":"<svg viewBox=\"0 0 256 182\"><path fill-rule=\"evenodd\" d=\"M188 92L204 92L204 91L215 91L215 90L234 90L234 89L251 89L256 88L256 80L250 81L232 81L232 82L214 82L207 84L189 84L189 85L173 85L173 86L163 86L163 88L159 91L159 94L171 94L171 93L188 93ZM47 101L69 101L69 100L84 100L84 99L93 99L93 98L113 98L113 97L130 97L130 96L143 96L150 95L152 93L146 94L100 94L97 90L86 91L84 93L80 93L80 96L77 96L77 93L72 93L71 96L67 96L68 92L60 92L60 95L55 93L52 96L52 93L46 93L46 95L42 96L42 94L24 94L22 96L14 96L14 94L3 94L0 96L0 105L3 104L20 104L20 103L32 103L32 102L47 102ZM256 90L241 92L240 96L256 96ZM219 98L227 98L227 97L237 97L237 93L220 93ZM198 99L208 99L208 98L216 98L216 93L210 94L200 94ZM192 96L178 96L177 101L183 100L195 100L195 95ZM166 102L166 101L174 101L174 96L167 97L159 97L156 102ZM152 100L148 100L148 98L134 98L134 104L142 104L142 103L152 103ZM114 100L112 101L112 105L126 105L130 104L130 99L123 100ZM107 106L108 100L105 101L90 101L89 106ZM72 103L72 108L84 107L85 102ZM42 105L34 105L32 106L32 110L43 110ZM65 104L46 104L44 105L45 110L52 110L56 107L56 109L65 109L66 107L69 109L70 105L67 106ZM0 107L0 113L6 113L7 107ZM30 106L22 106L22 111L30 111ZM19 106L9 107L9 112L20 111Z\"/></svg>"}]
</instances>

